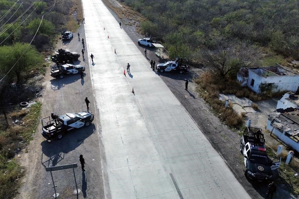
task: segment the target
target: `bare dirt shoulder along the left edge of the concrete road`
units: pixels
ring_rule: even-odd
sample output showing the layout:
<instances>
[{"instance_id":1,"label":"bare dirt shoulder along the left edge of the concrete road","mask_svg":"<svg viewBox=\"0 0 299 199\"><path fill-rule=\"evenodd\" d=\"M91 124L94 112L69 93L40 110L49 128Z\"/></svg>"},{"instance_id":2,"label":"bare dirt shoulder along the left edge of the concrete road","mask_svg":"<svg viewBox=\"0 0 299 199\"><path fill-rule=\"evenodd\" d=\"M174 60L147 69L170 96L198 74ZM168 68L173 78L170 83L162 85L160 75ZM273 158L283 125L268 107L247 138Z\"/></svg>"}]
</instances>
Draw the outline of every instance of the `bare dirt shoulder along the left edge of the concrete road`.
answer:
<instances>
[{"instance_id":1,"label":"bare dirt shoulder along the left edge of the concrete road","mask_svg":"<svg viewBox=\"0 0 299 199\"><path fill-rule=\"evenodd\" d=\"M84 27L81 25L80 38L85 36ZM65 76L56 80L46 73L42 98L43 109L41 116L48 117L51 113L64 114L69 112L86 111L85 97L91 102L90 110L95 112L93 105L93 92L90 80L88 59L83 59L81 40L77 34L70 42L58 41L57 49L69 49L78 52L81 57L75 64L86 67L86 76L81 79L79 74ZM85 51L87 58L87 51ZM49 70L48 70L49 71ZM26 176L23 178L24 185L19 190L16 198L41 199L53 198L54 189L50 172L45 171L47 166L77 163L75 175L78 189L82 192L79 198L104 198L102 189L102 170L99 151L99 140L96 131L96 118L89 127L83 127L65 135L61 140L48 142L40 134L39 126L33 141L28 148L28 153L23 152L21 164L26 168ZM86 171L81 170L79 155L82 154L86 165ZM75 198L73 191L76 189L72 169L53 172L56 191L59 198Z\"/></svg>"}]
</instances>

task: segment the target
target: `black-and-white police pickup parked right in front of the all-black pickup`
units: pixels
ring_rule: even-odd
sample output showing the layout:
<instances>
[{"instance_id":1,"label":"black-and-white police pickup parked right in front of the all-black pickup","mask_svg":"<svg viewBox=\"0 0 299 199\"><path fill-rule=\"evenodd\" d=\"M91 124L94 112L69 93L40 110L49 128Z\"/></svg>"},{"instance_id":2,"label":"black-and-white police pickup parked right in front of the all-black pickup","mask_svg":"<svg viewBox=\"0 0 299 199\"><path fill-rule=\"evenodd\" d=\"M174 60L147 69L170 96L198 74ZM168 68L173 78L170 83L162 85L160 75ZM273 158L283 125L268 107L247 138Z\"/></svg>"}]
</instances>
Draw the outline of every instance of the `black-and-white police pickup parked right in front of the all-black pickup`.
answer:
<instances>
[{"instance_id":1,"label":"black-and-white police pickup parked right in front of the all-black pickup","mask_svg":"<svg viewBox=\"0 0 299 199\"><path fill-rule=\"evenodd\" d=\"M85 71L85 67L81 65L73 65L73 64L64 64L64 65L57 65L57 64L51 64L51 73L50 76L55 78L64 78L66 75L70 74L78 74L80 71Z\"/></svg>"}]
</instances>

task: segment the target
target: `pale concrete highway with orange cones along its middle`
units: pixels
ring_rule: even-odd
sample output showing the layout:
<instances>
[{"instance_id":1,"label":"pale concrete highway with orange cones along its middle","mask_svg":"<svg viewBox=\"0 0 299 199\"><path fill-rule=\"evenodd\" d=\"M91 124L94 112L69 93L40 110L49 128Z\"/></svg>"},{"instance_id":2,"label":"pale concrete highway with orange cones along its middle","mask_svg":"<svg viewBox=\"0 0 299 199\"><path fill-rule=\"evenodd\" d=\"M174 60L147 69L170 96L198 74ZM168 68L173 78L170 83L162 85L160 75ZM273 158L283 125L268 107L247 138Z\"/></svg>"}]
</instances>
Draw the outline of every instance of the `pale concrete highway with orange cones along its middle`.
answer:
<instances>
[{"instance_id":1,"label":"pale concrete highway with orange cones along its middle","mask_svg":"<svg viewBox=\"0 0 299 199\"><path fill-rule=\"evenodd\" d=\"M250 198L105 5L83 10L105 197Z\"/></svg>"}]
</instances>

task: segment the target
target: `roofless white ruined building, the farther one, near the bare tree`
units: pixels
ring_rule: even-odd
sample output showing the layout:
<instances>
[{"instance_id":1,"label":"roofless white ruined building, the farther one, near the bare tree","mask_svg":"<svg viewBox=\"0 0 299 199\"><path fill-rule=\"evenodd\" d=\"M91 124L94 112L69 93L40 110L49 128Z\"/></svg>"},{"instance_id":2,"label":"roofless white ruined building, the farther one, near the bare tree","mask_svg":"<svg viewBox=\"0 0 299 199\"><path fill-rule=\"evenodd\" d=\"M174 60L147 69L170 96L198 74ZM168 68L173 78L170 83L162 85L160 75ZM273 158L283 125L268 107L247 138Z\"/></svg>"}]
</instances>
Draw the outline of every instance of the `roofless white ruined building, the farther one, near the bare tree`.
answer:
<instances>
[{"instance_id":1,"label":"roofless white ruined building, the farther one, near the bare tree","mask_svg":"<svg viewBox=\"0 0 299 199\"><path fill-rule=\"evenodd\" d=\"M296 92L299 74L279 64L267 67L242 67L237 74L242 86L247 86L256 93L267 90Z\"/></svg>"}]
</instances>

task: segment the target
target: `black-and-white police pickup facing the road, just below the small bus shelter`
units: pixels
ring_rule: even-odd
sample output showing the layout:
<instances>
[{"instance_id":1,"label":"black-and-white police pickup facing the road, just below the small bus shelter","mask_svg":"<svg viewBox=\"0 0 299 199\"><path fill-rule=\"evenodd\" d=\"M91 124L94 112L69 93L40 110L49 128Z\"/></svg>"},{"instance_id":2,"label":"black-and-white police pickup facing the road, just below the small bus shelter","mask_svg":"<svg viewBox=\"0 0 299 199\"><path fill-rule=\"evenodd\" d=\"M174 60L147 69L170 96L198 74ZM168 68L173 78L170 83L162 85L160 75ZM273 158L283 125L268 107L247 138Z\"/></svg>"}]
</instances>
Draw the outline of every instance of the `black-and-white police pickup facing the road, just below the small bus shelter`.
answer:
<instances>
[{"instance_id":1,"label":"black-and-white police pickup facing the road, just below the small bus shelter","mask_svg":"<svg viewBox=\"0 0 299 199\"><path fill-rule=\"evenodd\" d=\"M188 60L181 60L179 61L169 61L165 63L160 63L157 64L157 71L158 72L170 72L170 71L176 71L179 72L180 74L183 74L184 72L188 72L189 68L187 65Z\"/></svg>"}]
</instances>

